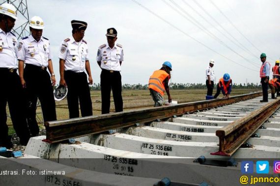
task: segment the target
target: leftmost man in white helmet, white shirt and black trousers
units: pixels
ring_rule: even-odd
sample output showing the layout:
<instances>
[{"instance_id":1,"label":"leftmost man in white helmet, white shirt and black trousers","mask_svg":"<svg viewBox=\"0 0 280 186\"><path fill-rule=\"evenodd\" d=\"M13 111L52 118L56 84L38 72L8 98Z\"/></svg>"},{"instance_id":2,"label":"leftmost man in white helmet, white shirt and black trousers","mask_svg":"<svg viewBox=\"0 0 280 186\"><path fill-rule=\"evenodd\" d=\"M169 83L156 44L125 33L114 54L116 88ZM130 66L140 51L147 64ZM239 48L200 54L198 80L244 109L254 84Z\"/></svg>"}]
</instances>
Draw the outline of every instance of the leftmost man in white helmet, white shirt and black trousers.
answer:
<instances>
[{"instance_id":1,"label":"leftmost man in white helmet, white shirt and black trousers","mask_svg":"<svg viewBox=\"0 0 280 186\"><path fill-rule=\"evenodd\" d=\"M16 8L12 4L0 5L0 147L11 148L11 136L8 136L6 124L6 105L8 102L10 117L22 145L30 138L24 109L23 88L17 74L17 38L11 33L17 20Z\"/></svg>"}]
</instances>

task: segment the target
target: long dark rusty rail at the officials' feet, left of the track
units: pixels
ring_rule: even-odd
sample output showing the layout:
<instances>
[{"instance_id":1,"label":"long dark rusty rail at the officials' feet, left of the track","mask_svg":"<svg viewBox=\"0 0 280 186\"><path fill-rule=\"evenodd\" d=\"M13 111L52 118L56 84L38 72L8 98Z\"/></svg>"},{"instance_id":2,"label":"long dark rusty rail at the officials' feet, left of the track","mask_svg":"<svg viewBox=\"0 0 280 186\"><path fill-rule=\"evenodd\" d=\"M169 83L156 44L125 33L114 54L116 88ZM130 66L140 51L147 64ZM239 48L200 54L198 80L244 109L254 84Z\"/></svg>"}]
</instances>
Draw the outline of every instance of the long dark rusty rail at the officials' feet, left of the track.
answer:
<instances>
[{"instance_id":1,"label":"long dark rusty rail at the officials' feet, left of the track","mask_svg":"<svg viewBox=\"0 0 280 186\"><path fill-rule=\"evenodd\" d=\"M232 96L229 99L212 99L177 105L125 111L100 116L87 116L45 122L46 142L56 143L70 138L78 138L105 132L111 129L133 126L136 123L151 122L156 119L179 116L187 112L231 104L262 95L261 92Z\"/></svg>"}]
</instances>

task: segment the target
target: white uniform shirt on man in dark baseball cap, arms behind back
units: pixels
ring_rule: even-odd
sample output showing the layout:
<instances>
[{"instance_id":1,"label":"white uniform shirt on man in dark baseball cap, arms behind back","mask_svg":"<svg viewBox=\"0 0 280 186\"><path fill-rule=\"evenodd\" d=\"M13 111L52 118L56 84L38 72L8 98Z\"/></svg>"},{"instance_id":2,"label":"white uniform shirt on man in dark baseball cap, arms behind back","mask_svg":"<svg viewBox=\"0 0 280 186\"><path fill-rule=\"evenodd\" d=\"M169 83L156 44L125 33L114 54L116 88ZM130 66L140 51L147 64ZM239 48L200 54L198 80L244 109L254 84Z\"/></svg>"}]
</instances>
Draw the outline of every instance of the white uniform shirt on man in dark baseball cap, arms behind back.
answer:
<instances>
[{"instance_id":1,"label":"white uniform shirt on man in dark baseball cap, arms behind back","mask_svg":"<svg viewBox=\"0 0 280 186\"><path fill-rule=\"evenodd\" d=\"M110 48L108 44L99 46L96 61L101 61L101 69L121 71L120 61L123 61L123 49L120 44Z\"/></svg>"}]
</instances>

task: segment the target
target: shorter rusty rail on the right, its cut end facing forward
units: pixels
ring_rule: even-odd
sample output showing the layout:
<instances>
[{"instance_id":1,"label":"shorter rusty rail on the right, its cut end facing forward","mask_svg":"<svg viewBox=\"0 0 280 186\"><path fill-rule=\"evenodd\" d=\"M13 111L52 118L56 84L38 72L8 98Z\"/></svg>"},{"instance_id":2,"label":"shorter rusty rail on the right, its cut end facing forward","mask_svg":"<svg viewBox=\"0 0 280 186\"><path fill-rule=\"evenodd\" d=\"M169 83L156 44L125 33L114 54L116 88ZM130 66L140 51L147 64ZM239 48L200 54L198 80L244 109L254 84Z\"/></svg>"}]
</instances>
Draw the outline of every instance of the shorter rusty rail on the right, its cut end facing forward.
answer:
<instances>
[{"instance_id":1,"label":"shorter rusty rail on the right, its cut end facing forward","mask_svg":"<svg viewBox=\"0 0 280 186\"><path fill-rule=\"evenodd\" d=\"M279 107L280 99L276 99L248 116L241 117L217 130L216 136L220 141L219 151L210 154L232 156Z\"/></svg>"}]
</instances>

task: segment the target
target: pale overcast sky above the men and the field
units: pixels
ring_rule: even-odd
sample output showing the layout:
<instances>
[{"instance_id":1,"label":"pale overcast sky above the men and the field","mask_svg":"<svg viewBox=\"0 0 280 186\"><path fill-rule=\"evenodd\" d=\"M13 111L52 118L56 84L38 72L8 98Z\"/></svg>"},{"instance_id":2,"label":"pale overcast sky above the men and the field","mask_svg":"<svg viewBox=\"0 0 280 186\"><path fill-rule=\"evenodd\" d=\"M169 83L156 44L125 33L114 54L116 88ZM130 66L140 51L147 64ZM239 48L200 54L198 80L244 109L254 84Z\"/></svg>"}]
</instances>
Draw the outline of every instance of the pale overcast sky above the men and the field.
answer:
<instances>
[{"instance_id":1,"label":"pale overcast sky above the men and the field","mask_svg":"<svg viewBox=\"0 0 280 186\"><path fill-rule=\"evenodd\" d=\"M259 83L260 53L272 67L280 57L280 0L137 1L142 6L133 0L28 0L29 18L40 16L45 23L57 81L59 46L71 36L74 19L88 23L84 40L94 83L101 72L97 48L107 42L109 27L124 48L123 84L146 84L164 61L172 64L171 82L205 83L210 59L217 80L229 73L233 82Z\"/></svg>"}]
</instances>

